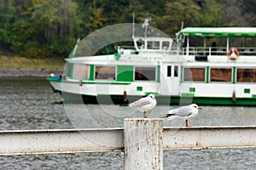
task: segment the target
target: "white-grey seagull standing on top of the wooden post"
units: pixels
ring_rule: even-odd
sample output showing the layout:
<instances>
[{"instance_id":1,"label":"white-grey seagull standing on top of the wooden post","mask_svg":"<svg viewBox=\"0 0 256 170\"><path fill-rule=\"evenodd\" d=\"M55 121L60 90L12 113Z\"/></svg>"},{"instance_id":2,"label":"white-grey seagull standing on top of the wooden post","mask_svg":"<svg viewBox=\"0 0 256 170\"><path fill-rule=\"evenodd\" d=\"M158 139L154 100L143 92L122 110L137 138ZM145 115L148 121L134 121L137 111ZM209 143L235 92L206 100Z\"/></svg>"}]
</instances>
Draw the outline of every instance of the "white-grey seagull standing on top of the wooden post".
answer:
<instances>
[{"instance_id":1,"label":"white-grey seagull standing on top of the wooden post","mask_svg":"<svg viewBox=\"0 0 256 170\"><path fill-rule=\"evenodd\" d=\"M149 94L147 97L138 99L135 102L132 102L130 107L137 107L139 111L143 112L143 118L147 118L147 111L152 110L156 105L156 99L154 94Z\"/></svg>"}]
</instances>

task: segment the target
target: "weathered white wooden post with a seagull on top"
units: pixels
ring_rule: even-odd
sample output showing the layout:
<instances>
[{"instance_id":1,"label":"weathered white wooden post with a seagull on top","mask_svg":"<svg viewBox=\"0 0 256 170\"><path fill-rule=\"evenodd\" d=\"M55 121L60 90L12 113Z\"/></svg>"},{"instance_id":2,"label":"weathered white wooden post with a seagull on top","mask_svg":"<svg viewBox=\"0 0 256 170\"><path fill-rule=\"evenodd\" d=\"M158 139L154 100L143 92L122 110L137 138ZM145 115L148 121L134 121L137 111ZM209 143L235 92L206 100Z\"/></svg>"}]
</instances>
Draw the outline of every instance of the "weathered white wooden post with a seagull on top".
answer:
<instances>
[{"instance_id":1,"label":"weathered white wooden post with a seagull on top","mask_svg":"<svg viewBox=\"0 0 256 170\"><path fill-rule=\"evenodd\" d=\"M163 121L125 118L125 170L163 169Z\"/></svg>"}]
</instances>

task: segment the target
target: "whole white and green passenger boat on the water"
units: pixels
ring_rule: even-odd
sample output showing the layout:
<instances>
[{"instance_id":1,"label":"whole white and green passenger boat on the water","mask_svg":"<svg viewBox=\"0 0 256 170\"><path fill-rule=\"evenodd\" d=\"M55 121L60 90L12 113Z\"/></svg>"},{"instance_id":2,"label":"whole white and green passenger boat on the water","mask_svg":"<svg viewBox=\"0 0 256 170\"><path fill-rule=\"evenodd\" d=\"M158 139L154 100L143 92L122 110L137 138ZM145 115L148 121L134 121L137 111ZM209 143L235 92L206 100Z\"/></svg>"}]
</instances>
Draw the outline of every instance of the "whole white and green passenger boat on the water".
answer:
<instances>
[{"instance_id":1,"label":"whole white and green passenger boat on the water","mask_svg":"<svg viewBox=\"0 0 256 170\"><path fill-rule=\"evenodd\" d=\"M63 75L47 80L84 103L155 94L166 105L256 105L256 47L246 44L255 37L256 27L187 27L173 39L133 35L133 48L70 57Z\"/></svg>"}]
</instances>

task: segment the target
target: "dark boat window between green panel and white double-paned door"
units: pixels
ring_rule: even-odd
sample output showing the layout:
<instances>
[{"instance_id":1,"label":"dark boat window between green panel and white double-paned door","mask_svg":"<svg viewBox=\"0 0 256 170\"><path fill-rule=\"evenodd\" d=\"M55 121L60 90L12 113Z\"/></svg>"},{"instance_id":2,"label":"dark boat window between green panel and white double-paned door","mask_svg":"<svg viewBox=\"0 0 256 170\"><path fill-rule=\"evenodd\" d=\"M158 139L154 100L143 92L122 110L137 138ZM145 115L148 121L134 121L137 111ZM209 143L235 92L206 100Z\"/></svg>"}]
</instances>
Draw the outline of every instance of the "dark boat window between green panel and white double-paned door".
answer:
<instances>
[{"instance_id":1,"label":"dark boat window between green panel and white double-paned door","mask_svg":"<svg viewBox=\"0 0 256 170\"><path fill-rule=\"evenodd\" d=\"M135 80L155 81L155 67L135 67Z\"/></svg>"}]
</instances>

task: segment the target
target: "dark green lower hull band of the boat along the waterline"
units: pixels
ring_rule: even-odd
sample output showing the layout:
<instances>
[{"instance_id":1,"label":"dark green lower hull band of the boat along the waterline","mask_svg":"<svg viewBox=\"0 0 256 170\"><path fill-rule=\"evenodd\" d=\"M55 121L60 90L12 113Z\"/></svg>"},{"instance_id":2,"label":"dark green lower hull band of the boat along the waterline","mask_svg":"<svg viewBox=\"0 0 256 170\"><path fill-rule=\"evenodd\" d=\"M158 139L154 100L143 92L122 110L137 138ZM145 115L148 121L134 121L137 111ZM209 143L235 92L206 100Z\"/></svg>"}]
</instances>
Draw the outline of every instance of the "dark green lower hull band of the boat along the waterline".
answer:
<instances>
[{"instance_id":1,"label":"dark green lower hull band of the boat along the waterline","mask_svg":"<svg viewBox=\"0 0 256 170\"><path fill-rule=\"evenodd\" d=\"M77 104L97 104L97 105L128 105L129 103L145 96L127 96L124 95L86 95L71 94L55 90L61 94L64 103ZM237 98L210 98L210 97L181 97L181 96L156 96L157 105L189 105L195 103L197 105L230 105L230 106L256 106L256 99Z\"/></svg>"}]
</instances>

